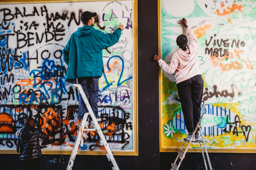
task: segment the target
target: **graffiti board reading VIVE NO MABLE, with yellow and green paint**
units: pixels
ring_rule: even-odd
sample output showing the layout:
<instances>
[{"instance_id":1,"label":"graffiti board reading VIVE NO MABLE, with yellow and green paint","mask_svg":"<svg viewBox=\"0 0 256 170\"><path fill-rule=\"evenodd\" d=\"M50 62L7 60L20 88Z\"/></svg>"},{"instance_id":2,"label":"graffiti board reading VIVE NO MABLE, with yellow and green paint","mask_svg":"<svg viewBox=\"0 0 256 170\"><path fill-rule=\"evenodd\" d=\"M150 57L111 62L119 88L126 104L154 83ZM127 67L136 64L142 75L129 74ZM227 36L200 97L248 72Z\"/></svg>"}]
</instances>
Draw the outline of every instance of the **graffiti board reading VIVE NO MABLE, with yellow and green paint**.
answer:
<instances>
[{"instance_id":1,"label":"graffiti board reading VIVE NO MABLE, with yellow and green paint","mask_svg":"<svg viewBox=\"0 0 256 170\"><path fill-rule=\"evenodd\" d=\"M185 6L184 6L185 4ZM182 7L182 12L177 7ZM184 34L181 19L197 37L206 110L202 132L211 149L255 149L255 1L161 0L161 52L168 63ZM182 146L188 131L174 75L162 72L161 147ZM200 148L199 145L192 145Z\"/></svg>"}]
</instances>

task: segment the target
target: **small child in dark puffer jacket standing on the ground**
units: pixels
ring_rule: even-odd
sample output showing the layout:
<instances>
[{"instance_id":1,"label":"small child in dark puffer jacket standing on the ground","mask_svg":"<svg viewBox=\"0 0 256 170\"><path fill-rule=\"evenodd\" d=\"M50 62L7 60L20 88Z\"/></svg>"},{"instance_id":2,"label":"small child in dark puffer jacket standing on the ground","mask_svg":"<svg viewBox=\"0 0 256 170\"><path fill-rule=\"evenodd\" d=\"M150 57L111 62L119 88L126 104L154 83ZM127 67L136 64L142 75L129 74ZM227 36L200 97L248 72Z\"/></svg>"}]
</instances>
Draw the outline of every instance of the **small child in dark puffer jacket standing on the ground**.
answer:
<instances>
[{"instance_id":1,"label":"small child in dark puffer jacket standing on the ground","mask_svg":"<svg viewBox=\"0 0 256 170\"><path fill-rule=\"evenodd\" d=\"M20 150L22 170L39 170L42 152L39 138L48 140L49 136L35 128L35 119L25 119L24 126L16 133L19 137L17 152Z\"/></svg>"}]
</instances>

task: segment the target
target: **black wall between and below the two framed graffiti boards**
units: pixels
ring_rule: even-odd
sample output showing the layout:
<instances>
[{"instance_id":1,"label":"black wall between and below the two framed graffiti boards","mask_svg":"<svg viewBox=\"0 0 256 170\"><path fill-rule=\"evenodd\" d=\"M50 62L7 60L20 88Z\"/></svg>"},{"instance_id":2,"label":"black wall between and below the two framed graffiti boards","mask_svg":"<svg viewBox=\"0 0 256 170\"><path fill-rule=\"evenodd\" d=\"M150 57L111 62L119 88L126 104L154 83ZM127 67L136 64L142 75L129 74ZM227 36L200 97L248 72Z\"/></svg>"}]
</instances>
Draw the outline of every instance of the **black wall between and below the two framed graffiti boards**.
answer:
<instances>
[{"instance_id":1,"label":"black wall between and below the two framed graffiti boards","mask_svg":"<svg viewBox=\"0 0 256 170\"><path fill-rule=\"evenodd\" d=\"M159 153L157 0L138 0L138 151L139 156L114 156L122 170L170 170L176 153ZM215 170L256 169L255 154L209 153ZM42 170L66 169L70 155L43 155ZM57 159L57 163L50 160ZM161 164L161 166L160 166ZM18 170L18 154L0 154L1 170ZM77 155L74 170L112 169L106 156ZM205 169L201 153L187 153L181 169Z\"/></svg>"}]
</instances>

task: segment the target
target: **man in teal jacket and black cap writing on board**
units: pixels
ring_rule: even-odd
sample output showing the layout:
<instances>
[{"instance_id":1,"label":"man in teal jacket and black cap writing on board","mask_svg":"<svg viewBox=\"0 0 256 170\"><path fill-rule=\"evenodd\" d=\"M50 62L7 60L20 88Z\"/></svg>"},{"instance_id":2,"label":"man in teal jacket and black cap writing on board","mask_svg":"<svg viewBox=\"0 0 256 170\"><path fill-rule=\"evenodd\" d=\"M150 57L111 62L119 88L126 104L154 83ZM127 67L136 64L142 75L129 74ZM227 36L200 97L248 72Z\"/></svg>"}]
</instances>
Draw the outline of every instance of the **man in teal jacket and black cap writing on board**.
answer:
<instances>
[{"instance_id":1,"label":"man in teal jacket and black cap writing on board","mask_svg":"<svg viewBox=\"0 0 256 170\"><path fill-rule=\"evenodd\" d=\"M96 12L85 11L80 18L83 27L74 32L63 50L63 59L68 65L66 81L81 84L84 93L88 97L89 103L98 116L98 93L99 78L103 72L102 50L116 44L121 36L124 26L121 23L113 33L103 33L94 29L94 17ZM88 112L86 105L79 94L79 118L82 119L84 113ZM91 117L87 119L85 128L94 128Z\"/></svg>"}]
</instances>

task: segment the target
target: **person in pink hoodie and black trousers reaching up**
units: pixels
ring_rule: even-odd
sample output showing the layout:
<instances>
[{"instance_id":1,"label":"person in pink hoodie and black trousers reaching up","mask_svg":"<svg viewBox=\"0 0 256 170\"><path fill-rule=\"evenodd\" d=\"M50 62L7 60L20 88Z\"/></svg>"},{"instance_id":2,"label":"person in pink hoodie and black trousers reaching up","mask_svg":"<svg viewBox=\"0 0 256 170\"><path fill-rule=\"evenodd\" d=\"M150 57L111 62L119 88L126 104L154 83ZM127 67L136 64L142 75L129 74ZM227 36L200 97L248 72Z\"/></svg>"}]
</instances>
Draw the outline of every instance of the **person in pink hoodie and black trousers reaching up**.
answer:
<instances>
[{"instance_id":1,"label":"person in pink hoodie and black trousers reaching up","mask_svg":"<svg viewBox=\"0 0 256 170\"><path fill-rule=\"evenodd\" d=\"M172 56L170 64L166 64L161 56L155 55L154 60L167 73L173 74L180 97L181 109L184 115L185 126L188 130L187 139L190 140L193 131L201 116L201 101L203 97L203 79L199 68L197 56L197 39L192 29L188 28L187 20L183 18L181 23L186 28L188 39L181 34L177 37L177 46L180 47ZM188 43L189 40L189 43ZM200 141L199 129L192 141Z\"/></svg>"}]
</instances>

